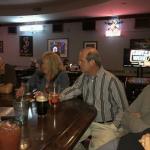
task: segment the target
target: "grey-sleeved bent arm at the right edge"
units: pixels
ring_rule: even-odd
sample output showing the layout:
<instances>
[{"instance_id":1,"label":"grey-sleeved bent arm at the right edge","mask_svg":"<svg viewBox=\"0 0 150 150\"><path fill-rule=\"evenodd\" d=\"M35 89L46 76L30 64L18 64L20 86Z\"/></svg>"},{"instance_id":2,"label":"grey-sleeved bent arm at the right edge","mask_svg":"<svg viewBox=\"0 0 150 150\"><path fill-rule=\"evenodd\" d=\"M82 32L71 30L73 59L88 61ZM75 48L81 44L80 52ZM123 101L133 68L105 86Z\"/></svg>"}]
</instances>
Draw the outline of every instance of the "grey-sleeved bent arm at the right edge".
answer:
<instances>
[{"instance_id":1,"label":"grey-sleeved bent arm at the right edge","mask_svg":"<svg viewBox=\"0 0 150 150\"><path fill-rule=\"evenodd\" d=\"M122 123L131 132L142 132L145 129L150 128L150 125L144 121L149 118L147 116L150 116L149 91L150 86L144 88L143 92L124 113Z\"/></svg>"}]
</instances>

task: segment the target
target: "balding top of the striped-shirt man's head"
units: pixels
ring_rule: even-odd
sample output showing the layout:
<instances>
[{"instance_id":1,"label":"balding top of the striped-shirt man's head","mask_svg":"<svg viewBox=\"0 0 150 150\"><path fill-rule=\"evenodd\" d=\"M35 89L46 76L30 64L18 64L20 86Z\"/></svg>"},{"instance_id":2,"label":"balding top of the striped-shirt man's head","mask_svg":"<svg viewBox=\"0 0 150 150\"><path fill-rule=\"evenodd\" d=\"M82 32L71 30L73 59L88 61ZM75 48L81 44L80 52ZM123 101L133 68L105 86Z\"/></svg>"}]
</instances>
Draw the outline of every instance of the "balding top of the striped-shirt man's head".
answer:
<instances>
[{"instance_id":1,"label":"balding top of the striped-shirt man's head","mask_svg":"<svg viewBox=\"0 0 150 150\"><path fill-rule=\"evenodd\" d=\"M84 48L80 53L82 53L88 62L93 60L98 67L101 67L100 53L95 48Z\"/></svg>"}]
</instances>

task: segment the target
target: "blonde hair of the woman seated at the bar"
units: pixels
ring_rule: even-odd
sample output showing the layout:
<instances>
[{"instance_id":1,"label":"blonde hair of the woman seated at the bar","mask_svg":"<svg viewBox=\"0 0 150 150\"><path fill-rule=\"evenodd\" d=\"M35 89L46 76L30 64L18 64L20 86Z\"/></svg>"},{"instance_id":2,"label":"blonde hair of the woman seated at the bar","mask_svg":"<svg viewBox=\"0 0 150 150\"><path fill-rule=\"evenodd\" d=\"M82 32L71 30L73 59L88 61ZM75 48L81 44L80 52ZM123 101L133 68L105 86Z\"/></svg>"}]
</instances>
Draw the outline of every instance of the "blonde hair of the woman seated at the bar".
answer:
<instances>
[{"instance_id":1,"label":"blonde hair of the woman seated at the bar","mask_svg":"<svg viewBox=\"0 0 150 150\"><path fill-rule=\"evenodd\" d=\"M54 78L60 71L64 70L61 58L56 53L45 52L42 55L42 59L48 60L49 72L52 78Z\"/></svg>"}]
</instances>

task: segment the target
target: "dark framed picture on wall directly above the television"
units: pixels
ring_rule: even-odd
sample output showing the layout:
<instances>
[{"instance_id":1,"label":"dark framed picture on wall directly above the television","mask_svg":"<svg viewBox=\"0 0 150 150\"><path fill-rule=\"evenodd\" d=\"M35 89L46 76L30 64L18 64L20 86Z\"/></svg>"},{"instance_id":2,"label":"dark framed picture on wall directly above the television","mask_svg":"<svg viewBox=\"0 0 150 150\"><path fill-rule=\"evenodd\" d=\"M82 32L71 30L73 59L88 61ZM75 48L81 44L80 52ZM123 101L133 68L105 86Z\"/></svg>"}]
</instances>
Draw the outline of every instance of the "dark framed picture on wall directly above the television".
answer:
<instances>
[{"instance_id":1,"label":"dark framed picture on wall directly above the television","mask_svg":"<svg viewBox=\"0 0 150 150\"><path fill-rule=\"evenodd\" d=\"M150 39L131 39L131 49L150 49Z\"/></svg>"}]
</instances>

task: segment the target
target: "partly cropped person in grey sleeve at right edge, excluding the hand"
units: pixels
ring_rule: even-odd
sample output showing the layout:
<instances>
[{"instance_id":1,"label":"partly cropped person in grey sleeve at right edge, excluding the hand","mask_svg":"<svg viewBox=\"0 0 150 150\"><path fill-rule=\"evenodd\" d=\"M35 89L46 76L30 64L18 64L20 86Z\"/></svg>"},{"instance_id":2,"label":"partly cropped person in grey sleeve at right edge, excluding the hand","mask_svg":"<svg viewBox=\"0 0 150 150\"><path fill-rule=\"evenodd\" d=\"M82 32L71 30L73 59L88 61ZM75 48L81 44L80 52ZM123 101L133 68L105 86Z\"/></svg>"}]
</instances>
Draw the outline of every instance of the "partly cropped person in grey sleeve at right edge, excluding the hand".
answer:
<instances>
[{"instance_id":1,"label":"partly cropped person in grey sleeve at right edge, excluding the hand","mask_svg":"<svg viewBox=\"0 0 150 150\"><path fill-rule=\"evenodd\" d=\"M143 150L138 140L150 133L150 85L144 88L125 112L122 123L129 134L107 143L100 150Z\"/></svg>"}]
</instances>

